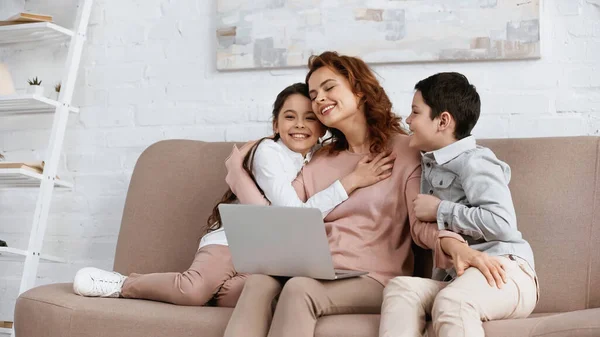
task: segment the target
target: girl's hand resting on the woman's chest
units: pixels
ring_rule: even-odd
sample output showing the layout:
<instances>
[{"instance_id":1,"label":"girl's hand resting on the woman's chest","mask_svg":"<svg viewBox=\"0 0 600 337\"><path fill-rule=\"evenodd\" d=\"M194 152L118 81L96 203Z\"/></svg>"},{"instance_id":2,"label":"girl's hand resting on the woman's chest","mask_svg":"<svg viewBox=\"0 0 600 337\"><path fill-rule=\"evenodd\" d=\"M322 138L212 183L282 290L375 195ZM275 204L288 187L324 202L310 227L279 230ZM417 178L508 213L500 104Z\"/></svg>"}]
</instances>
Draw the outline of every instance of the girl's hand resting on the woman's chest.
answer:
<instances>
[{"instance_id":1,"label":"girl's hand resting on the woman's chest","mask_svg":"<svg viewBox=\"0 0 600 337\"><path fill-rule=\"evenodd\" d=\"M346 193L350 194L357 188L373 185L392 175L396 155L390 152L382 152L375 156L364 156L352 173L340 180Z\"/></svg>"}]
</instances>

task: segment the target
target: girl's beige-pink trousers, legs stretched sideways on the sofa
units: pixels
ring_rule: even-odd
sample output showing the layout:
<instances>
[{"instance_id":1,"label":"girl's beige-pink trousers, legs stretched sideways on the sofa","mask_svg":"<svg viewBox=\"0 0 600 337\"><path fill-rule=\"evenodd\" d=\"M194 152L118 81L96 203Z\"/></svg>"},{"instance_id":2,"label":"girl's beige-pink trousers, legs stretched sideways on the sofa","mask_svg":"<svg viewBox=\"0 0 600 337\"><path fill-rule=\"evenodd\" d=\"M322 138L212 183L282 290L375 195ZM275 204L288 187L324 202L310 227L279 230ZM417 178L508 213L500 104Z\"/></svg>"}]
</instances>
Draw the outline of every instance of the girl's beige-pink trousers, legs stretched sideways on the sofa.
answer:
<instances>
[{"instance_id":1,"label":"girl's beige-pink trousers, legs stretched sideways on the sofa","mask_svg":"<svg viewBox=\"0 0 600 337\"><path fill-rule=\"evenodd\" d=\"M233 269L228 246L208 245L183 273L131 274L121 296L198 306L214 299L217 306L235 307L246 277Z\"/></svg>"}]
</instances>

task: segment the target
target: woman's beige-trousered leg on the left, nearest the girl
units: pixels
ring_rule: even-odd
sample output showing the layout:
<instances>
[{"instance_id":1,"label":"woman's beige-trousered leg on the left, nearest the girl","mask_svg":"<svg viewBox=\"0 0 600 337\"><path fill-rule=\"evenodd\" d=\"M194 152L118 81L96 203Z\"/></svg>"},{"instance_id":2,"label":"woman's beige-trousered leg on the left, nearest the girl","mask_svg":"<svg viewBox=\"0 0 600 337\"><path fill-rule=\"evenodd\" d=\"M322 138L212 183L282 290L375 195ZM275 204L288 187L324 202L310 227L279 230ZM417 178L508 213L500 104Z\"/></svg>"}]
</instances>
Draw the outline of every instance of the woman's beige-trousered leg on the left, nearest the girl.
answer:
<instances>
[{"instance_id":1,"label":"woman's beige-trousered leg on the left, nearest the girl","mask_svg":"<svg viewBox=\"0 0 600 337\"><path fill-rule=\"evenodd\" d=\"M273 319L274 302L282 281L267 275L250 275L227 324L225 337L265 337Z\"/></svg>"}]
</instances>

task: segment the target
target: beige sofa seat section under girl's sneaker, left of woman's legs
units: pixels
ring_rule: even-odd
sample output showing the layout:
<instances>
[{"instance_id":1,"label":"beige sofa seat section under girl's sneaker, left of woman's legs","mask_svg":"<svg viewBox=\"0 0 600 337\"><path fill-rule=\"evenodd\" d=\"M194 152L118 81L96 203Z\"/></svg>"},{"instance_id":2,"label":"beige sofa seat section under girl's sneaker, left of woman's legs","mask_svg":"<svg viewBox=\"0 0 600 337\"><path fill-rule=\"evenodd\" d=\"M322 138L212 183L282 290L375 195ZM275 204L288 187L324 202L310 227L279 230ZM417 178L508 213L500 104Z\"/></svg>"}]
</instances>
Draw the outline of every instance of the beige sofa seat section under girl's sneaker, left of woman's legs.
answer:
<instances>
[{"instance_id":1,"label":"beige sofa seat section under girl's sneaker, left of woman's legs","mask_svg":"<svg viewBox=\"0 0 600 337\"><path fill-rule=\"evenodd\" d=\"M25 337L221 337L231 312L230 308L82 297L73 293L72 284L61 283L21 294L15 307L15 332Z\"/></svg>"}]
</instances>

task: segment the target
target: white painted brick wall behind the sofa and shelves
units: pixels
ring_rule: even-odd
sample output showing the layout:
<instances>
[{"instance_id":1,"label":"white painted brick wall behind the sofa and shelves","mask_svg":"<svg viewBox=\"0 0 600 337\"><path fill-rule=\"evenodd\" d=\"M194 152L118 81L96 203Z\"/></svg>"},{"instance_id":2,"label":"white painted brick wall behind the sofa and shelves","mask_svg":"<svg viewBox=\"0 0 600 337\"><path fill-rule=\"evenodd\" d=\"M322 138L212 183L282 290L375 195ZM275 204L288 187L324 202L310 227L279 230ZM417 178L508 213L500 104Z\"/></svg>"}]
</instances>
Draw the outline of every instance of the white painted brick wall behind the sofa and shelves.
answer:
<instances>
[{"instance_id":1,"label":"white painted brick wall behind the sofa and shelves","mask_svg":"<svg viewBox=\"0 0 600 337\"><path fill-rule=\"evenodd\" d=\"M2 1L3 5L5 1ZM6 2L19 8L18 0ZM215 1L97 0L69 121L44 250L69 264L43 264L38 283L68 282L87 265L111 268L125 191L141 151L161 139L247 140L269 131L276 93L304 69L215 70ZM76 0L29 0L26 8L71 27ZM5 15L0 7L0 17ZM541 60L376 65L405 116L414 84L460 71L478 87L480 138L600 134L600 8L597 0L543 1ZM66 48L0 50L19 89L29 77L61 76ZM0 151L42 159L51 116L0 117ZM25 247L36 191L0 190L0 238ZM0 320L11 320L21 264L0 262Z\"/></svg>"}]
</instances>

